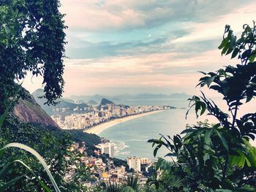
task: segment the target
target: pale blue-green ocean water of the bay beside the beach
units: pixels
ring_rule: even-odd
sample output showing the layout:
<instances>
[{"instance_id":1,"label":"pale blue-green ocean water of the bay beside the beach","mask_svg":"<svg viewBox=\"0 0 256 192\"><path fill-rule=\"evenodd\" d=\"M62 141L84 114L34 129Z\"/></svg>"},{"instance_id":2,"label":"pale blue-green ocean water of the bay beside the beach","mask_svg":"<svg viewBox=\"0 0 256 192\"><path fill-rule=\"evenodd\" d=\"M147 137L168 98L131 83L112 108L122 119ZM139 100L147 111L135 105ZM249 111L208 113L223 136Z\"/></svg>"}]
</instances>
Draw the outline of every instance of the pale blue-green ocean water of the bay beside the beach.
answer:
<instances>
[{"instance_id":1,"label":"pale blue-green ocean water of the bay beside the beach","mask_svg":"<svg viewBox=\"0 0 256 192\"><path fill-rule=\"evenodd\" d=\"M102 131L99 136L110 139L116 144L116 158L126 159L127 156L135 155L141 158L154 159L153 148L148 139L159 139L159 134L180 134L187 123L195 122L194 112L191 112L186 120L188 101L187 99L159 99L159 100L129 100L123 101L128 105L170 105L178 107L176 110L165 110L152 115L119 123L116 126ZM185 107L186 109L181 109ZM157 157L164 157L167 150L162 147ZM156 157L156 158L157 158Z\"/></svg>"}]
</instances>

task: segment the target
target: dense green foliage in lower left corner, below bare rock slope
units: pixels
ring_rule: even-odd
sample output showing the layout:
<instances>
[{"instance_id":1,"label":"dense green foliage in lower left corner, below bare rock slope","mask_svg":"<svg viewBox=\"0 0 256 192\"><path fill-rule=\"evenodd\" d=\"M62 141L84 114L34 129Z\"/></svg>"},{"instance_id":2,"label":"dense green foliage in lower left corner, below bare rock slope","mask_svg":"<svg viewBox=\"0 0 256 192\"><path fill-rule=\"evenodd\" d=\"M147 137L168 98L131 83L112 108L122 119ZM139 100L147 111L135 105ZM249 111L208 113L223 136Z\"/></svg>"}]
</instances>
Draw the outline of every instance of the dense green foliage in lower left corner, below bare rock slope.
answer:
<instances>
[{"instance_id":1,"label":"dense green foliage in lower left corner, below bare rock slope","mask_svg":"<svg viewBox=\"0 0 256 192\"><path fill-rule=\"evenodd\" d=\"M72 144L70 136L62 131L48 130L40 126L35 128L29 123L21 123L18 118L9 117L0 129L0 145L4 146L10 142L19 142L37 150L44 156L46 164L50 167L57 185L61 191L86 191L87 189L80 184L80 177L89 174L84 166L78 162L79 153L71 153L67 148ZM67 158L69 161L67 161ZM25 166L18 166L20 159L23 164L29 165L29 169ZM12 166L10 166L10 162ZM45 183L45 186L52 189L53 185L49 180L48 174L39 164L36 158L22 150L10 149L6 150L0 158L0 169L10 167L4 177L0 177L0 183L8 183L13 178L20 177L15 183L9 186L8 191L43 191L41 183L37 177ZM76 166L77 176L71 182L67 183L64 176L70 166ZM32 171L32 172L31 172ZM37 175L35 177L34 175ZM84 178L87 180L88 178ZM13 185L15 184L15 185Z\"/></svg>"}]
</instances>

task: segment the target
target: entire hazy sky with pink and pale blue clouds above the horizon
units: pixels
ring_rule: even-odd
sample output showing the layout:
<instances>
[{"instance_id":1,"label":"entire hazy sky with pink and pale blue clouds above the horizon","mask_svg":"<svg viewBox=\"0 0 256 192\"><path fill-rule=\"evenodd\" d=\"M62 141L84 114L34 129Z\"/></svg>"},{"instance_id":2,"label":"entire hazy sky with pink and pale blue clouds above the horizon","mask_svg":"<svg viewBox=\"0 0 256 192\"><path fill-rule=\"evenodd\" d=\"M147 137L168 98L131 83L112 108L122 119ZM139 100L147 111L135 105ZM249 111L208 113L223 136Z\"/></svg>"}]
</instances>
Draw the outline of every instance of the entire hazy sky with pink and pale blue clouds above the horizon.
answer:
<instances>
[{"instance_id":1,"label":"entire hazy sky with pink and pale blue clouds above the horizon","mask_svg":"<svg viewBox=\"0 0 256 192\"><path fill-rule=\"evenodd\" d=\"M67 29L64 96L194 93L200 74L232 64L225 24L256 20L249 0L61 0ZM235 61L236 63L236 61ZM33 83L31 83L33 82ZM42 79L27 77L34 91Z\"/></svg>"}]
</instances>

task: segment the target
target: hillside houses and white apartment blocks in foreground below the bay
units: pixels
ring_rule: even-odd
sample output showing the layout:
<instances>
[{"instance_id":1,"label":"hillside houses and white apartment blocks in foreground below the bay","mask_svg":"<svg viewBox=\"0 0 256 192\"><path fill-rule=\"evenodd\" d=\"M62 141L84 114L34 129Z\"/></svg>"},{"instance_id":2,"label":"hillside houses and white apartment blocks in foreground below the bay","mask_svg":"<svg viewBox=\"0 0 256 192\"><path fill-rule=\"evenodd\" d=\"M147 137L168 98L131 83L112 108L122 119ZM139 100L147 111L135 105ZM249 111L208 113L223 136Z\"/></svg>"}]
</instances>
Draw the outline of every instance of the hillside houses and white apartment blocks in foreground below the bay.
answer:
<instances>
[{"instance_id":1,"label":"hillside houses and white apartment blocks in foreground below the bay","mask_svg":"<svg viewBox=\"0 0 256 192\"><path fill-rule=\"evenodd\" d=\"M143 171L141 169L141 165L146 167L144 171L147 171L147 168L150 166L154 166L155 161L149 161L148 158L138 158L138 157L128 157L127 158L127 166L115 166L113 160L111 158L103 159L100 154L108 154L109 156L114 155L113 153L113 144L112 143L102 143L96 145L98 150L94 150L95 155L89 156L86 153L86 147L84 143L79 145L78 143L74 143L69 150L73 153L80 153L79 158L76 160L78 163L82 164L85 168L84 174L90 173L90 179L81 180L80 183L86 185L88 188L91 188L94 185L98 185L99 183L105 182L115 182L122 183L127 179L129 174L138 175L138 179L141 184L145 184L148 179L145 175L143 175ZM69 158L69 157L67 157ZM75 177L75 170L77 169L77 165L72 164L69 167L68 172L65 176L65 180L69 182L69 180L73 180Z\"/></svg>"}]
</instances>

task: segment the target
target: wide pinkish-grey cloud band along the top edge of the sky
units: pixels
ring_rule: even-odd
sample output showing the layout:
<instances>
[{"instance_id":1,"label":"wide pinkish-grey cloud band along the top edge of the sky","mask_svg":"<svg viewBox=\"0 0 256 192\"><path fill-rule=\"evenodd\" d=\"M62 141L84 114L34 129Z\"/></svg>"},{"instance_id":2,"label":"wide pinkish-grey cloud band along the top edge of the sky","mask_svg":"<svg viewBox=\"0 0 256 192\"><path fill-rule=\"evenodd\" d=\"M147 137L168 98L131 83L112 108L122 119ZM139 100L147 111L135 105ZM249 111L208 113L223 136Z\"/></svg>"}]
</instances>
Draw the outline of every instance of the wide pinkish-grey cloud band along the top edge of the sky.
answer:
<instances>
[{"instance_id":1,"label":"wide pinkish-grey cloud band along the top edge of the sky","mask_svg":"<svg viewBox=\"0 0 256 192\"><path fill-rule=\"evenodd\" d=\"M203 22L226 15L243 0L61 0L71 30L116 31L151 28L170 22Z\"/></svg>"}]
</instances>

